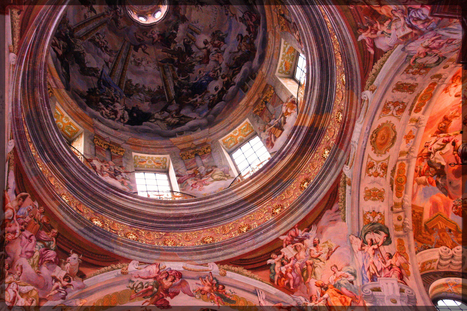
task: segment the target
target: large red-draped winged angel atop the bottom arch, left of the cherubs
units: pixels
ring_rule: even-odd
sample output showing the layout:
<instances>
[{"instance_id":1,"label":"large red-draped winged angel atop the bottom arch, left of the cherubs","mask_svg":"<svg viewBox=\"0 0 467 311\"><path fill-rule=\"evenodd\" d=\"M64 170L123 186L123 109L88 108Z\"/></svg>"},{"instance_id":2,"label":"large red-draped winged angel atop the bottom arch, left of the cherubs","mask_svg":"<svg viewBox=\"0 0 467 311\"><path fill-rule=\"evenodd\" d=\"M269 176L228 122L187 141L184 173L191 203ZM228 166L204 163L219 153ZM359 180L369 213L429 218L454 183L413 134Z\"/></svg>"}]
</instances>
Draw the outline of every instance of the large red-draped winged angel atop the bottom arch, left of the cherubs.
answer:
<instances>
[{"instance_id":1,"label":"large red-draped winged angel atop the bottom arch, left of the cherubs","mask_svg":"<svg viewBox=\"0 0 467 311\"><path fill-rule=\"evenodd\" d=\"M130 281L132 284L128 285L128 287L135 291L130 299L143 297L146 298L142 303L143 305L153 304L159 309L168 309L170 308L170 303L166 299L167 297L173 299L180 294L180 291L190 297L194 297L188 282L182 278L180 271L164 268L164 266L161 268L160 263L152 263L144 268L137 268L137 271L130 272L136 278L143 280L152 279L152 281L145 283L142 281Z\"/></svg>"}]
</instances>

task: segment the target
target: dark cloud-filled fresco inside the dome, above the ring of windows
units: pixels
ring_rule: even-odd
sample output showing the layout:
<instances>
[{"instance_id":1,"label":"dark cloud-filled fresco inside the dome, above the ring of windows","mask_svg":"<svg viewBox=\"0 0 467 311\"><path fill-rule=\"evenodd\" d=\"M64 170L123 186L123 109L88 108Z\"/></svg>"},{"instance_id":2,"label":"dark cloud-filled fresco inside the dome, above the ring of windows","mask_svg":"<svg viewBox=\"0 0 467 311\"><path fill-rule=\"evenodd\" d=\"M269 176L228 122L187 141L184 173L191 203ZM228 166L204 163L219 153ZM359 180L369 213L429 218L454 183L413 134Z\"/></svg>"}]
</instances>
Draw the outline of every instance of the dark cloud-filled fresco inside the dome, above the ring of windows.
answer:
<instances>
[{"instance_id":1,"label":"dark cloud-filled fresco inside the dome, above the ring of windows","mask_svg":"<svg viewBox=\"0 0 467 311\"><path fill-rule=\"evenodd\" d=\"M261 67L266 20L251 5L195 4L169 7L149 27L122 6L67 8L50 54L71 98L110 128L150 139L227 117Z\"/></svg>"}]
</instances>

